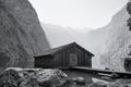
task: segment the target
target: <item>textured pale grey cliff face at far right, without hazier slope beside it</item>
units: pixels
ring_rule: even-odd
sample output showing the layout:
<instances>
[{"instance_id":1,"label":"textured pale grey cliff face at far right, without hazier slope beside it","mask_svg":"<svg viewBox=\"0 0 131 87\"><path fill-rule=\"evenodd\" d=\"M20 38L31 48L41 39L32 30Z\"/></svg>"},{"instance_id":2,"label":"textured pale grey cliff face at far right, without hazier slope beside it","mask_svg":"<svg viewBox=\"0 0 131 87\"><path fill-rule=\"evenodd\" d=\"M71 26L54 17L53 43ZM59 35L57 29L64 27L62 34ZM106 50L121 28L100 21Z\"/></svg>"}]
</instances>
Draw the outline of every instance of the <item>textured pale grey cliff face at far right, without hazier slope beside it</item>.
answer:
<instances>
[{"instance_id":1,"label":"textured pale grey cliff face at far right, without hazier slope beside it","mask_svg":"<svg viewBox=\"0 0 131 87\"><path fill-rule=\"evenodd\" d=\"M99 58L105 66L117 71L124 71L123 63L129 53L131 33L127 26L128 18L129 14L124 7L105 27L105 29L108 28L107 39L105 40L106 48Z\"/></svg>"}]
</instances>

